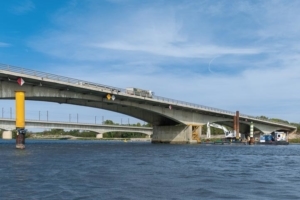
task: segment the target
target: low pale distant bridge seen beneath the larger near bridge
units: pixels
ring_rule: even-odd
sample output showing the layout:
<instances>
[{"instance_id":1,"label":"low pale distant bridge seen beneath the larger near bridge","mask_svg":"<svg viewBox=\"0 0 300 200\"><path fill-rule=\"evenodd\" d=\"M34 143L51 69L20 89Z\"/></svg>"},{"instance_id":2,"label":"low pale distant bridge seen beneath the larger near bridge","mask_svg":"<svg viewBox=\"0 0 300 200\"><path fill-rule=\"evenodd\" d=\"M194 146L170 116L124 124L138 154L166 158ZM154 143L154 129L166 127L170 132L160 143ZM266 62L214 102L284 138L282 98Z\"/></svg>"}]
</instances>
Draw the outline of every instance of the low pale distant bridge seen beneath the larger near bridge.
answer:
<instances>
[{"instance_id":1,"label":"low pale distant bridge seen beneath the larger near bridge","mask_svg":"<svg viewBox=\"0 0 300 200\"><path fill-rule=\"evenodd\" d=\"M14 130L16 128L15 119L1 119L0 129ZM143 133L148 136L152 135L152 127L143 126L123 126L123 125L107 125L107 124L83 124L72 122L54 122L54 121L38 121L26 120L26 128L49 128L49 129L70 129L70 130L84 130L98 133L97 136L102 137L103 133L107 132L132 132ZM99 135L100 134L100 135Z\"/></svg>"}]
</instances>

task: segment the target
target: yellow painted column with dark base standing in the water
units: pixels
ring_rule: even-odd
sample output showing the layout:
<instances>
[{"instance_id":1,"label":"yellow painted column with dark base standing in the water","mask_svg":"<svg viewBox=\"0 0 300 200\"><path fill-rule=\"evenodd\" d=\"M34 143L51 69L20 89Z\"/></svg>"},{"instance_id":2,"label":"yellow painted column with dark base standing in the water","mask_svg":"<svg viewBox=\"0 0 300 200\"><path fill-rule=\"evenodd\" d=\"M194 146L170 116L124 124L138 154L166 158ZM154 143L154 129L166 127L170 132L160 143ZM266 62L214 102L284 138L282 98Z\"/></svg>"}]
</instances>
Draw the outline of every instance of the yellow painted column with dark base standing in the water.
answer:
<instances>
[{"instance_id":1,"label":"yellow painted column with dark base standing in the water","mask_svg":"<svg viewBox=\"0 0 300 200\"><path fill-rule=\"evenodd\" d=\"M25 149L25 92L16 91L16 148Z\"/></svg>"}]
</instances>

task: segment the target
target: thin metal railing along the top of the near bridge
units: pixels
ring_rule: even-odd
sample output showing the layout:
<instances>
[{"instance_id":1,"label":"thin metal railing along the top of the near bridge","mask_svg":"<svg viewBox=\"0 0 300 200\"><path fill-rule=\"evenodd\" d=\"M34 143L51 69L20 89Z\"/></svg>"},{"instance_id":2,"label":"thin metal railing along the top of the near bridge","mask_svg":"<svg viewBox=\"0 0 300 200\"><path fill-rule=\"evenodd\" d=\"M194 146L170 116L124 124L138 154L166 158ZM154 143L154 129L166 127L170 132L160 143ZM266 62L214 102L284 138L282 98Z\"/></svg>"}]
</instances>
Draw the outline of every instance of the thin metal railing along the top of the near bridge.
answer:
<instances>
[{"instance_id":1,"label":"thin metal railing along the top of the near bridge","mask_svg":"<svg viewBox=\"0 0 300 200\"><path fill-rule=\"evenodd\" d=\"M99 88L99 89L104 88L104 89L111 90L112 92L117 91L117 92L126 94L126 89L123 89L123 88L112 87L112 86L108 86L108 85L88 82L88 81L74 79L74 78L68 78L65 76L59 76L59 75L55 75L55 74L39 72L39 71L35 71L35 70L30 70L30 69L24 69L21 67L16 67L16 66L11 66L11 65L6 65L6 64L0 64L0 70L11 71L11 72L20 73L20 74L36 76L39 78L46 78L46 79L50 79L50 80L54 80L54 81L61 81L61 82L65 82L65 83L81 85L81 86L85 86L85 87L89 87L89 88ZM222 110L222 109L218 109L218 108L212 108L212 107L208 107L208 106L184 102L184 101L170 99L170 98L166 98L166 97L152 96L152 98L150 98L150 99L155 99L155 100L161 101L163 103L170 103L172 105L188 106L188 107L194 108L194 109L201 109L201 110L206 110L206 111L215 112L215 113L222 113L222 114L227 114L227 115L232 115L232 116L235 115L235 113L232 111ZM261 121L266 121L266 122L272 122L275 124L281 124L281 123L276 123L269 119L260 119L255 116L250 116L250 115L246 115L246 114L242 114L242 113L240 114L240 117L248 118L249 120L255 119L255 120L261 120Z\"/></svg>"}]
</instances>

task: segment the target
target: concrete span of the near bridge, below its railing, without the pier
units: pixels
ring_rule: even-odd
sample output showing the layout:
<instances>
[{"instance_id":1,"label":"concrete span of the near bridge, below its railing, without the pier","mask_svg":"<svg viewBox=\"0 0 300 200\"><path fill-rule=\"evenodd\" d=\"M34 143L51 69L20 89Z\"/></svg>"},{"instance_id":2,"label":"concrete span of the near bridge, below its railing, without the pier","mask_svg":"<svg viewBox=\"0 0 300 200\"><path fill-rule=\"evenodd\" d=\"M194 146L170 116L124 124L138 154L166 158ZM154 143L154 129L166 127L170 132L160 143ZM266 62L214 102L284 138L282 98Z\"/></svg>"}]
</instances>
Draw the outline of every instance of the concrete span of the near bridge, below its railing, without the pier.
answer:
<instances>
[{"instance_id":1,"label":"concrete span of the near bridge, below its railing, without the pier","mask_svg":"<svg viewBox=\"0 0 300 200\"><path fill-rule=\"evenodd\" d=\"M25 79L25 84L19 86L16 83L18 77ZM111 88L86 88L74 83L61 82L15 72L0 73L0 98L14 99L15 91L25 91L27 100L66 103L74 105L101 108L122 114L126 114L153 126L204 125L207 122L232 121L233 114L216 112L209 109L195 109L192 106L177 105L172 102L171 108L167 101L159 101L150 98L121 94L120 91ZM114 101L106 99L106 95L115 95ZM242 118L240 118L241 121ZM257 122L258 121L258 122ZM283 126L274 123L256 120L255 126L269 131L272 128ZM284 126L289 130L296 130L292 126Z\"/></svg>"}]
</instances>

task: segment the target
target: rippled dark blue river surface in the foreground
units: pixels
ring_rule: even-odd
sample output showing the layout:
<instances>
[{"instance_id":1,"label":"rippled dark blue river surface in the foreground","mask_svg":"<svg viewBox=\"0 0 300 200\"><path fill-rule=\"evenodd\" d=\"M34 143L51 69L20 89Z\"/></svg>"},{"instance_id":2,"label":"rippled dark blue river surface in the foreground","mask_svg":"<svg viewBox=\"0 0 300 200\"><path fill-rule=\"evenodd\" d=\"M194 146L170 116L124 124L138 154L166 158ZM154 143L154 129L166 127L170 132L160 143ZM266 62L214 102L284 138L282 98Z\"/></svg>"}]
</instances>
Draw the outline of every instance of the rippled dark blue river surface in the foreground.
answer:
<instances>
[{"instance_id":1,"label":"rippled dark blue river surface in the foreground","mask_svg":"<svg viewBox=\"0 0 300 200\"><path fill-rule=\"evenodd\" d=\"M300 145L0 139L0 199L300 199Z\"/></svg>"}]
</instances>

